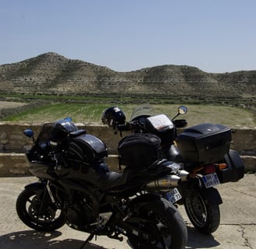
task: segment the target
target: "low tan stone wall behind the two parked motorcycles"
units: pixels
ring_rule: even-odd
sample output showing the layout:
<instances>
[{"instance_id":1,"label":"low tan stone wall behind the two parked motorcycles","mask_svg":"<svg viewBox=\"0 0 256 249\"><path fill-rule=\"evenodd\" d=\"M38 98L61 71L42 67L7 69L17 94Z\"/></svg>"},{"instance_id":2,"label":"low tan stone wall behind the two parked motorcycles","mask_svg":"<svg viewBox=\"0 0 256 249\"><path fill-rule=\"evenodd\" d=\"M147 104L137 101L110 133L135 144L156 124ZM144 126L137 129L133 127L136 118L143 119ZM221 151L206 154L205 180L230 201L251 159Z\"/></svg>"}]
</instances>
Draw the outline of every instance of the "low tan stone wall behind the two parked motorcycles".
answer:
<instances>
[{"instance_id":1,"label":"low tan stone wall behind the two parked motorcycles","mask_svg":"<svg viewBox=\"0 0 256 249\"><path fill-rule=\"evenodd\" d=\"M111 128L99 124L76 125L79 128L86 129L87 133L102 139L108 147L108 154L117 154L117 145L122 138L119 134L115 135ZM33 142L32 139L23 135L23 131L27 128L31 128L34 131L34 137L37 138L41 124L0 122L0 176L28 174L24 153L27 149L30 149ZM123 137L127 134L129 132L123 132ZM232 137L231 149L235 149L240 153L247 170L255 171L256 129L233 128ZM118 169L116 156L109 156L108 163L113 170Z\"/></svg>"}]
</instances>

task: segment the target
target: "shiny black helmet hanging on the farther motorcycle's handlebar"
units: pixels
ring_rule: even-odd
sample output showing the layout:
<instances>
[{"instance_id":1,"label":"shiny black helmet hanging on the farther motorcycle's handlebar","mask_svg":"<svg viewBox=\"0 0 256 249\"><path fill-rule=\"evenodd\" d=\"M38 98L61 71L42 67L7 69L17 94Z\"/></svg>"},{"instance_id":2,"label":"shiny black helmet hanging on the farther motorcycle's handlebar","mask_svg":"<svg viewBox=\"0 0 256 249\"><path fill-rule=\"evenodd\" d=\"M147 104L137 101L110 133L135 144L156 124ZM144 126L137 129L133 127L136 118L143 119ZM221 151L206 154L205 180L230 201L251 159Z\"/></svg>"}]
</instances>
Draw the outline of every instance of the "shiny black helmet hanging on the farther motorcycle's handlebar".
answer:
<instances>
[{"instance_id":1,"label":"shiny black helmet hanging on the farther motorcycle's handlebar","mask_svg":"<svg viewBox=\"0 0 256 249\"><path fill-rule=\"evenodd\" d=\"M101 114L101 121L103 124L112 126L123 125L126 121L126 115L119 107L108 107Z\"/></svg>"}]
</instances>

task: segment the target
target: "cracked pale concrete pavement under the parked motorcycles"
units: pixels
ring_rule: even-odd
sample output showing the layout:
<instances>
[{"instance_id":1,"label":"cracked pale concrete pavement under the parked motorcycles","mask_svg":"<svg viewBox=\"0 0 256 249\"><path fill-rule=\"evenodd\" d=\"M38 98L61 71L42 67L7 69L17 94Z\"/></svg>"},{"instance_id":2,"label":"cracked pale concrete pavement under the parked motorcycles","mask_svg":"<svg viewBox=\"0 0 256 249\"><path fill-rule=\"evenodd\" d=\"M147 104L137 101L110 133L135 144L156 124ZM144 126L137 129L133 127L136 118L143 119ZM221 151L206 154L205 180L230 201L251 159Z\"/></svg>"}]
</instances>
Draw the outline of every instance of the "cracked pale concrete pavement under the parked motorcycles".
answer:
<instances>
[{"instance_id":1,"label":"cracked pale concrete pavement under the parked motorcycles","mask_svg":"<svg viewBox=\"0 0 256 249\"><path fill-rule=\"evenodd\" d=\"M0 177L0 248L1 249L78 249L87 238L63 226L54 233L38 233L25 226L16 215L16 198L23 186L36 181L34 177ZM246 174L237 183L218 186L222 195L221 225L210 236L198 233L191 225L183 206L179 206L187 223L187 248L256 249L256 175ZM123 242L98 237L85 249L128 249Z\"/></svg>"}]
</instances>

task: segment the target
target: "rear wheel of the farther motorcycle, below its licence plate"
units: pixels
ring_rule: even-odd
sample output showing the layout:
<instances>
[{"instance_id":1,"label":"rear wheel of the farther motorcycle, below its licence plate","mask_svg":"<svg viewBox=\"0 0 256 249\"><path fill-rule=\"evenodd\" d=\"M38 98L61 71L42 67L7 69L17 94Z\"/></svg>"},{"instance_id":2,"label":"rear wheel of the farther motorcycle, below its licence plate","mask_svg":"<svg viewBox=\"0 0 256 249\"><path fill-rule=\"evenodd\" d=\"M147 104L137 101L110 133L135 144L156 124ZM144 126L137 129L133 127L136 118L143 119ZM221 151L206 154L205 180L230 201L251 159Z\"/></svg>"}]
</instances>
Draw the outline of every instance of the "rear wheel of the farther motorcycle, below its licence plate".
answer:
<instances>
[{"instance_id":1,"label":"rear wheel of the farther motorcycle, below its licence plate","mask_svg":"<svg viewBox=\"0 0 256 249\"><path fill-rule=\"evenodd\" d=\"M184 200L187 216L193 226L204 234L215 232L219 227L219 205L211 205L201 191L189 191Z\"/></svg>"}]
</instances>

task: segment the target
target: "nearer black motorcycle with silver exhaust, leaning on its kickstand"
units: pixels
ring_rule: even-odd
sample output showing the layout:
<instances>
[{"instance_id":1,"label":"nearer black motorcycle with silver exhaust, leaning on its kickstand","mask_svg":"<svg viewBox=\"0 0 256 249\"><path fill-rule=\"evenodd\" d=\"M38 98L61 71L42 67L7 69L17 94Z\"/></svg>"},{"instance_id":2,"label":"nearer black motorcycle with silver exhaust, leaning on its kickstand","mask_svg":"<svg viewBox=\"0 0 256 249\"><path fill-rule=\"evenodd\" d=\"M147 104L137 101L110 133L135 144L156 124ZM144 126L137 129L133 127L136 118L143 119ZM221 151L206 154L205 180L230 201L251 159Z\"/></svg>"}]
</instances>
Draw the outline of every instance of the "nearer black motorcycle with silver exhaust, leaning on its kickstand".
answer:
<instances>
[{"instance_id":1,"label":"nearer black motorcycle with silver exhaust, leaning on its kickstand","mask_svg":"<svg viewBox=\"0 0 256 249\"><path fill-rule=\"evenodd\" d=\"M119 241L125 236L133 248L186 247L180 212L151 191L168 192L181 181L177 164L162 160L158 136L134 134L124 140L126 168L118 173L105 163L105 143L79 130L69 117L44 124L37 139L30 129L24 134L34 141L26 160L38 178L16 200L16 212L27 226L50 232L67 224L89 233L80 248L99 235ZM140 153L127 156L130 142Z\"/></svg>"}]
</instances>

